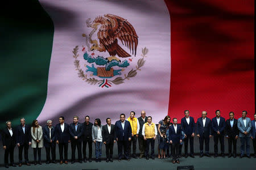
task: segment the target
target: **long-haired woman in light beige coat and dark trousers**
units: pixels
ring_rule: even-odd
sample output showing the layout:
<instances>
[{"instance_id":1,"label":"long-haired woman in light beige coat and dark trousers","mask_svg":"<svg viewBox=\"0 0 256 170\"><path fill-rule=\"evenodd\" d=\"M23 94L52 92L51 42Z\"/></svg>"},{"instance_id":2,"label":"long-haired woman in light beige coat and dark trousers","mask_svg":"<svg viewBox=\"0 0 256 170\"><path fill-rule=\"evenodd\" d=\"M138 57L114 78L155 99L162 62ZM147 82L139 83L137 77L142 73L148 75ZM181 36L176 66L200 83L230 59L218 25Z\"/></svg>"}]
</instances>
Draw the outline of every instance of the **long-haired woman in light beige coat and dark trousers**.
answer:
<instances>
[{"instance_id":1,"label":"long-haired woman in light beige coat and dark trousers","mask_svg":"<svg viewBox=\"0 0 256 170\"><path fill-rule=\"evenodd\" d=\"M36 154L38 154L38 163L40 165L42 165L42 163L41 163L41 148L44 145L43 129L42 129L42 126L39 126L38 120L34 120L32 122L31 137L32 137L31 147L34 150L34 164L36 165Z\"/></svg>"}]
</instances>

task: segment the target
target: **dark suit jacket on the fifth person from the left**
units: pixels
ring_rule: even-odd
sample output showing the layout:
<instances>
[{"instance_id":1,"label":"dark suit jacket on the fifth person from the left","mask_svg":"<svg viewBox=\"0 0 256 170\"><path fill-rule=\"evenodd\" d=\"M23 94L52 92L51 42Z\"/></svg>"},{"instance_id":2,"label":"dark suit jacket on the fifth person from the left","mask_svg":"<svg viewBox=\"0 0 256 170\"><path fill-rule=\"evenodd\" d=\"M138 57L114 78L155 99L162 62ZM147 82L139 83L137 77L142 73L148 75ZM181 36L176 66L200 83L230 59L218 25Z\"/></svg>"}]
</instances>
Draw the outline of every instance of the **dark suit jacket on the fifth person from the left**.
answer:
<instances>
[{"instance_id":1,"label":"dark suit jacket on the fifth person from the left","mask_svg":"<svg viewBox=\"0 0 256 170\"><path fill-rule=\"evenodd\" d=\"M55 138L59 143L68 143L70 141L69 125L64 123L64 131L61 131L60 124L55 126Z\"/></svg>"}]
</instances>

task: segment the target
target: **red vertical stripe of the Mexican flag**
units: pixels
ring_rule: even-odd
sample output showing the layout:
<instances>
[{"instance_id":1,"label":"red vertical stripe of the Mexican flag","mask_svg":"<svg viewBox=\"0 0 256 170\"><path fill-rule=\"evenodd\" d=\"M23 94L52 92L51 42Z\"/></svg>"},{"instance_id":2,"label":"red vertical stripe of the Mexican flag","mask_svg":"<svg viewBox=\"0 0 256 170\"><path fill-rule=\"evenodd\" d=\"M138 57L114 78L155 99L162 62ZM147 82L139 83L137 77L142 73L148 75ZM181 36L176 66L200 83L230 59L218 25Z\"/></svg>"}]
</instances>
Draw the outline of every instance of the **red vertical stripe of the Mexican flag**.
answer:
<instances>
[{"instance_id":1,"label":"red vertical stripe of the Mexican flag","mask_svg":"<svg viewBox=\"0 0 256 170\"><path fill-rule=\"evenodd\" d=\"M168 114L255 113L254 1L165 1L171 18Z\"/></svg>"}]
</instances>

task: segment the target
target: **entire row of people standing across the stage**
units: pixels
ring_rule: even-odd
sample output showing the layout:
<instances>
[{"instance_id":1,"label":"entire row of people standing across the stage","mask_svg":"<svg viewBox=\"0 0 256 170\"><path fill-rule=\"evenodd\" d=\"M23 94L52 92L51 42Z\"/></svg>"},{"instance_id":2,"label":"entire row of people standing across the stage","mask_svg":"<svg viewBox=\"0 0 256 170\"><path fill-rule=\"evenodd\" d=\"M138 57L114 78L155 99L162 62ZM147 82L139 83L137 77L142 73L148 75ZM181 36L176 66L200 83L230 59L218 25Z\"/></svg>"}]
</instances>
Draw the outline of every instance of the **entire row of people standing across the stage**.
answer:
<instances>
[{"instance_id":1,"label":"entire row of people standing across the stage","mask_svg":"<svg viewBox=\"0 0 256 170\"><path fill-rule=\"evenodd\" d=\"M73 117L73 123L68 125L64 123L64 117L59 118L59 124L52 126L52 121L47 121L47 126L42 128L38 121L32 122L29 128L25 124L25 119L20 118L20 125L14 130L11 128L11 122L7 121L7 128L3 129L3 148L5 149L5 165L8 165L8 157L10 155L11 165L14 165L13 151L15 145L19 147L19 166L22 165L22 152L24 150L25 163L28 163L28 147L34 148L34 161L36 164L36 156L38 155L39 164L41 164L41 148L46 147L47 164L50 163L50 151L52 155L52 163L56 163L55 147L59 145L60 164L68 163L68 143L71 142L72 159L75 162L75 151L77 148L79 162L82 163L82 154L84 162L86 162L86 144L89 146L89 162L92 161L92 142L96 147L96 162L101 161L102 143L106 146L106 162L113 162L113 146L117 142L118 160L122 159L122 152L127 160L131 156L136 156L137 139L139 141L139 150L141 151L139 158L146 156L149 159L148 151L151 145L151 158L154 159L154 142L158 135L159 150L161 153L167 151L171 146L173 155L173 163L179 163L179 153L181 151L180 143L183 143L185 158L188 156L188 141L190 143L190 156L193 158L193 138L195 137L195 121L189 116L189 111L185 111L185 117L181 119L181 125L177 125L177 119L174 118L174 124L170 123L170 117L166 116L164 120L159 122L158 127L152 123L152 117L146 117L146 112L141 112L141 117L135 118L135 112L130 112L130 117L125 120L125 114L120 115L120 120L111 124L111 119L106 119L106 125L102 126L100 119L94 121L94 125L89 122L89 116L85 117L85 122L80 123L77 116ZM250 121L246 117L247 112L242 112L242 117L238 120L234 119L234 113L230 112L230 118L220 117L220 111L216 111L216 117L210 120L207 112L202 112L202 117L197 120L197 137L200 141L200 157L203 157L203 143L205 142L205 155L209 156L209 138L214 138L214 157L218 152L218 141L221 143L221 154L224 156L224 136L229 142L229 157L232 156L232 143L234 147L233 156L236 157L236 141L238 136L241 138L241 158L245 155L244 145L246 143L246 156L250 157L250 138L253 139L255 154L255 120ZM83 145L83 147L82 147ZM131 145L133 146L133 154L131 155ZM64 152L64 157L63 157ZM159 158L160 151L159 151ZM163 154L162 158L163 158Z\"/></svg>"}]
</instances>

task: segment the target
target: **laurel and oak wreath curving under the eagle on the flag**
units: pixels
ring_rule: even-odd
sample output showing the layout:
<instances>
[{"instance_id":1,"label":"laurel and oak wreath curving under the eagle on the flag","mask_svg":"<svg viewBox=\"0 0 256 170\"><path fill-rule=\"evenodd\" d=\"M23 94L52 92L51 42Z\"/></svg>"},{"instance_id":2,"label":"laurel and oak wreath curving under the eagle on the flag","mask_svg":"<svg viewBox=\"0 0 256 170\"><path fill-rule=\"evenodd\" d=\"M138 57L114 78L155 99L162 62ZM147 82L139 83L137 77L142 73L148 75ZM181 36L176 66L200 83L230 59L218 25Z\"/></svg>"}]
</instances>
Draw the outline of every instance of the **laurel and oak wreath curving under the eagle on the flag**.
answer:
<instances>
[{"instance_id":1,"label":"laurel and oak wreath curving under the eagle on the flag","mask_svg":"<svg viewBox=\"0 0 256 170\"><path fill-rule=\"evenodd\" d=\"M96 79L96 78L87 78L87 75L84 74L84 71L82 71L82 69L81 69L81 67L80 67L80 61L79 61L79 59L77 59L77 57L79 57L79 54L77 54L78 52L79 52L79 46L77 45L77 46L73 49L73 54L74 54L74 55L73 55L73 58L75 58L74 65L75 65L75 67L76 67L76 70L78 71L78 73L77 73L78 76L79 76L80 78L82 78L82 80L85 80L85 82L87 82L87 83L89 83L89 84L96 84L96 83L97 83L97 84L100 84L100 83L102 83L103 80L98 80L98 79ZM137 71L138 71L138 70L141 71L141 67L144 66L144 63L146 62L146 61L144 60L144 58L147 57L147 56L146 56L147 53L148 53L148 49L147 49L146 47L142 48L142 54L141 54L142 58L138 59L136 69L135 69L135 70L134 70L134 69L131 69L127 75L125 74L125 77L124 77L124 78L122 78L121 76L119 76L118 78L115 78L114 80L108 80L108 82L109 82L110 84L113 83L113 84L118 85L118 84L124 83L124 81L125 81L126 79L129 80L130 78L133 78L134 76L136 76L136 75L137 75Z\"/></svg>"}]
</instances>

